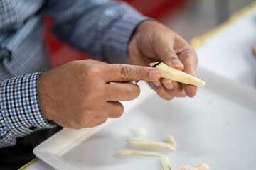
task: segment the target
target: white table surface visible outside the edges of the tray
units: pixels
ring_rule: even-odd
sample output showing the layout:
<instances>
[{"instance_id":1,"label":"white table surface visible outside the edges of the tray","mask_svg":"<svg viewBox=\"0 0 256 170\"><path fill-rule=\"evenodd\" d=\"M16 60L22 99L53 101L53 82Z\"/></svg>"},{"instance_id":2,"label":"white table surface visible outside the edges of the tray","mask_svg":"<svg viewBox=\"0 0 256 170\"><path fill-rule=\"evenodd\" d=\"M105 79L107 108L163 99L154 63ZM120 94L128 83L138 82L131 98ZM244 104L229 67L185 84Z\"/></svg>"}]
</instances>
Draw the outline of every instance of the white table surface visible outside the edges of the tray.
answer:
<instances>
[{"instance_id":1,"label":"white table surface visible outside the edges of the tray","mask_svg":"<svg viewBox=\"0 0 256 170\"><path fill-rule=\"evenodd\" d=\"M256 60L252 55L252 45L256 42L255 18L256 8L198 47L198 64L256 89ZM25 169L53 168L38 159Z\"/></svg>"}]
</instances>

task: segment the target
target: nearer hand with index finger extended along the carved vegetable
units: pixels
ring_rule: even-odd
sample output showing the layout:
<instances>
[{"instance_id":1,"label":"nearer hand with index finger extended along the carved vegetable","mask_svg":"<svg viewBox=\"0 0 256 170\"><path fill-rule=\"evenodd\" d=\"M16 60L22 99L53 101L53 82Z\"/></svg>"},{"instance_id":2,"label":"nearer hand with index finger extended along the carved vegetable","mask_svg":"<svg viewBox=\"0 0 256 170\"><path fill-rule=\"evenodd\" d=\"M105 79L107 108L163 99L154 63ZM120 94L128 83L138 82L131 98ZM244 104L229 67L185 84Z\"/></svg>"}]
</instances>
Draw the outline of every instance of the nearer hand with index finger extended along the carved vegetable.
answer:
<instances>
[{"instance_id":1,"label":"nearer hand with index finger extended along the carved vegetable","mask_svg":"<svg viewBox=\"0 0 256 170\"><path fill-rule=\"evenodd\" d=\"M137 84L110 82L159 78L159 71L151 67L96 60L68 62L39 76L41 111L47 120L63 127L93 127L107 118L119 118L124 111L119 101L131 101L139 96Z\"/></svg>"}]
</instances>

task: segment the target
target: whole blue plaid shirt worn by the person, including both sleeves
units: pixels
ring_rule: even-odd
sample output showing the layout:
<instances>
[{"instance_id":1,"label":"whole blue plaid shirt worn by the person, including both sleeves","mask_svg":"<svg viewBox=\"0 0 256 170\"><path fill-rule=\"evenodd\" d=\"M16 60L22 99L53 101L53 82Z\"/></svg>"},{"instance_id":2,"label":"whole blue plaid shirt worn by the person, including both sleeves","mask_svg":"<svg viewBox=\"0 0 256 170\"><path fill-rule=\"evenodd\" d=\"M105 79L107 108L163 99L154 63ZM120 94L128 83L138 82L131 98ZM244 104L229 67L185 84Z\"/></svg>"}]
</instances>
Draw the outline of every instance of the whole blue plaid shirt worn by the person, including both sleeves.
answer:
<instances>
[{"instance_id":1,"label":"whole blue plaid shirt worn by the person, including both sleeves","mask_svg":"<svg viewBox=\"0 0 256 170\"><path fill-rule=\"evenodd\" d=\"M53 127L41 113L37 89L40 73L50 69L43 45L43 13L54 18L58 38L110 63L129 61L129 38L146 19L117 1L0 1L0 147Z\"/></svg>"}]
</instances>

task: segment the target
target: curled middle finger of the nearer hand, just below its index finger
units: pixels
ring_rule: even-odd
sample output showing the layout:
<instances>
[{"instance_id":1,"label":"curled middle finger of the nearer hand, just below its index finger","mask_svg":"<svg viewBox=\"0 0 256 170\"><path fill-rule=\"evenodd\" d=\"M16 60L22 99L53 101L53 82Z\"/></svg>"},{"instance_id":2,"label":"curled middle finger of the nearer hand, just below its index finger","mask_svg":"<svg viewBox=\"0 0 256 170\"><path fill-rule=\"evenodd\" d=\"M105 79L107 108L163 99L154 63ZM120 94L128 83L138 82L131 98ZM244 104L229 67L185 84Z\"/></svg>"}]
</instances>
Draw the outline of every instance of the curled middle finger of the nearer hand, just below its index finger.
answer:
<instances>
[{"instance_id":1,"label":"curled middle finger of the nearer hand, just below its index finger","mask_svg":"<svg viewBox=\"0 0 256 170\"><path fill-rule=\"evenodd\" d=\"M132 101L140 93L139 86L130 83L106 84L105 91L106 101Z\"/></svg>"}]
</instances>

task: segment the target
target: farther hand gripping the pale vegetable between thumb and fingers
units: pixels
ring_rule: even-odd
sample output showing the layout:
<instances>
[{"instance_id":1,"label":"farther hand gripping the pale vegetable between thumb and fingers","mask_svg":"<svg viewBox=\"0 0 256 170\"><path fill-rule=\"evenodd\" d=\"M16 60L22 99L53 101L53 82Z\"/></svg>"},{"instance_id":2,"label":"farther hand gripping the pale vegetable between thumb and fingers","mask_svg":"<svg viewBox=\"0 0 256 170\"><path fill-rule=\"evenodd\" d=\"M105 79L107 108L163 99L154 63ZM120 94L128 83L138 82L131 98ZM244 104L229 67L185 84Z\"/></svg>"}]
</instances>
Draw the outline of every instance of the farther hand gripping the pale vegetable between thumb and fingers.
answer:
<instances>
[{"instance_id":1,"label":"farther hand gripping the pale vegetable between thumb and fingers","mask_svg":"<svg viewBox=\"0 0 256 170\"><path fill-rule=\"evenodd\" d=\"M183 38L157 21L139 24L129 42L128 52L134 65L148 66L151 62L164 60L165 64L196 76L196 52ZM171 100L174 96L193 97L197 91L196 86L169 79L149 82L149 86L166 100Z\"/></svg>"}]
</instances>

